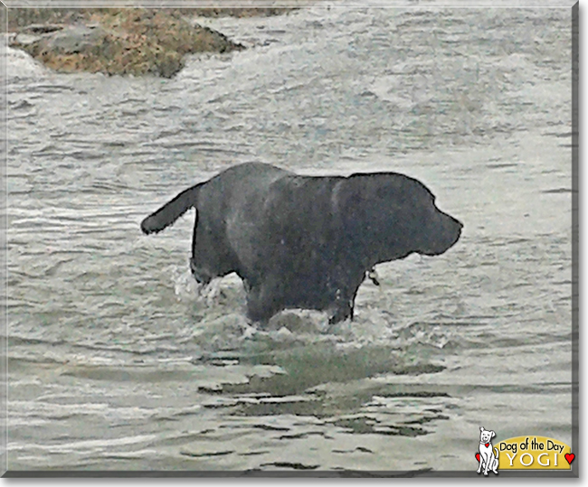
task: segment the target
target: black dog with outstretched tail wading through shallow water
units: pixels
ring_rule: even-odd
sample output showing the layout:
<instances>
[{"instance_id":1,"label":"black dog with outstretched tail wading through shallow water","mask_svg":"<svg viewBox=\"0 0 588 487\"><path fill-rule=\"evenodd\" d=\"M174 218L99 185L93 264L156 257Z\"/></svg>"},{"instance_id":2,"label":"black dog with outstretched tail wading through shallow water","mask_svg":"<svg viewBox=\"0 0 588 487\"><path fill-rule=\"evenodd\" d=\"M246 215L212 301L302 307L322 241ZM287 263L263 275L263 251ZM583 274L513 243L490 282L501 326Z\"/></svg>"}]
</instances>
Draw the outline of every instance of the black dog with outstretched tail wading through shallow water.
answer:
<instances>
[{"instance_id":1,"label":"black dog with outstretched tail wading through shallow water","mask_svg":"<svg viewBox=\"0 0 588 487\"><path fill-rule=\"evenodd\" d=\"M439 255L460 238L460 221L434 201L403 174L310 177L249 163L181 192L141 229L161 231L194 207L190 267L199 283L236 272L252 321L306 308L337 323L353 318L357 289L375 264Z\"/></svg>"}]
</instances>

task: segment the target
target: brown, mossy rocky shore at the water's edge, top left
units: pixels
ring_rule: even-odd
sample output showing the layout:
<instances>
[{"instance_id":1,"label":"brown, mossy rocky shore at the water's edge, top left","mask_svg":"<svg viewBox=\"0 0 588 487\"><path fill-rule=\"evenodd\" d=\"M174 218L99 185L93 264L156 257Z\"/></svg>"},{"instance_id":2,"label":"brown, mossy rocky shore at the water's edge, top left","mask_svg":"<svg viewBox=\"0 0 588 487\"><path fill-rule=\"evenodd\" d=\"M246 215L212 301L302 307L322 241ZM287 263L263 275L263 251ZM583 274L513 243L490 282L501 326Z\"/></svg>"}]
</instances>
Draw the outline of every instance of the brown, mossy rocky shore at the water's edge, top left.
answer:
<instances>
[{"instance_id":1,"label":"brown, mossy rocky shore at the water's edge, top left","mask_svg":"<svg viewBox=\"0 0 588 487\"><path fill-rule=\"evenodd\" d=\"M189 16L282 14L290 9L33 9L9 17L10 46L59 72L171 78L186 54L245 47Z\"/></svg>"}]
</instances>

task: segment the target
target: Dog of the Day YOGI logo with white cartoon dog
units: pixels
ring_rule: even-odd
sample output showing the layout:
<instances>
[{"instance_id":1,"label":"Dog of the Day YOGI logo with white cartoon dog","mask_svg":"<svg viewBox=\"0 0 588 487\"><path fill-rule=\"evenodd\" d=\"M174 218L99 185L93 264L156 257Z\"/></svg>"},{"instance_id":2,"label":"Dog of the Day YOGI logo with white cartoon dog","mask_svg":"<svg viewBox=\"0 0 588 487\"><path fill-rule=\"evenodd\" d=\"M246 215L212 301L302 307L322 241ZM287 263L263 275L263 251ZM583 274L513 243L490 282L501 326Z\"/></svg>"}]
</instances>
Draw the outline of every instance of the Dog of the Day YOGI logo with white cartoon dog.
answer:
<instances>
[{"instance_id":1,"label":"Dog of the Day YOGI logo with white cartoon dog","mask_svg":"<svg viewBox=\"0 0 588 487\"><path fill-rule=\"evenodd\" d=\"M571 470L575 454L564 442L545 436L517 436L492 445L494 431L479 428L478 473L501 470Z\"/></svg>"}]
</instances>

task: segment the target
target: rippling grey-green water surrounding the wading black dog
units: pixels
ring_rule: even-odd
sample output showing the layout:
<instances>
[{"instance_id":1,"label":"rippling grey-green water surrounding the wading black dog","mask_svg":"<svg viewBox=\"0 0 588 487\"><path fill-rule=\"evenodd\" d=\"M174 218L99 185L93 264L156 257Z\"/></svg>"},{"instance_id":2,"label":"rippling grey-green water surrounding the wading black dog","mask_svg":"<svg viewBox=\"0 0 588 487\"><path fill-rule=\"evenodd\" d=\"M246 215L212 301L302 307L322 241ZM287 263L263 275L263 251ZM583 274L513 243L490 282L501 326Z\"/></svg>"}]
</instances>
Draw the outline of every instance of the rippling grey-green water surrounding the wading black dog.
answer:
<instances>
[{"instance_id":1,"label":"rippling grey-green water surrounding the wading black dog","mask_svg":"<svg viewBox=\"0 0 588 487\"><path fill-rule=\"evenodd\" d=\"M8 49L10 470L466 470L479 426L572 441L571 10L302 9L203 23L250 47L174 80ZM264 332L188 270L232 164L390 170L465 223L377 268L356 320ZM441 446L440 446L441 445Z\"/></svg>"}]
</instances>

